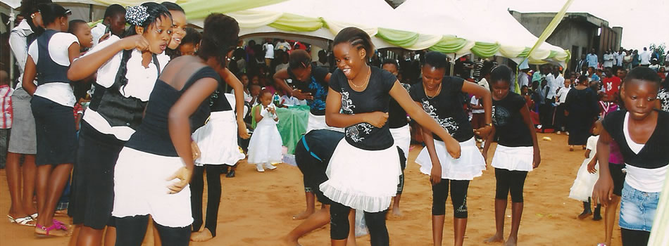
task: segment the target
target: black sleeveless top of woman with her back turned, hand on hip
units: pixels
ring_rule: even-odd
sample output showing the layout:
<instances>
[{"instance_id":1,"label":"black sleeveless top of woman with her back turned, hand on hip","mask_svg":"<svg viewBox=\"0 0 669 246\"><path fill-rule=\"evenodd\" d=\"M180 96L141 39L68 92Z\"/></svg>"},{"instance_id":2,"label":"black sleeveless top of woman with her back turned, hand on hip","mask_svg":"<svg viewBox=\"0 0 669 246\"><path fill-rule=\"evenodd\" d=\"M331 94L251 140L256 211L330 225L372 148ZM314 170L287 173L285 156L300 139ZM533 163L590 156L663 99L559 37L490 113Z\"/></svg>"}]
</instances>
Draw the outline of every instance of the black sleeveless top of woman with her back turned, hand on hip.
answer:
<instances>
[{"instance_id":1,"label":"black sleeveless top of woman with her back turned, hand on hip","mask_svg":"<svg viewBox=\"0 0 669 246\"><path fill-rule=\"evenodd\" d=\"M149 97L149 102L151 103L146 105L144 120L139 125L139 129L135 131L135 134L132 134L130 140L125 143L125 146L154 155L178 157L179 155L174 148L168 129L170 109L194 82L207 77L216 79L218 84L221 83L218 73L208 66L202 67L195 72L186 84L184 84L181 91L177 91L174 87L158 79L156 86L154 86L154 91L151 91L151 96ZM205 100L200 103L197 110L190 116L191 133L204 125L209 114L209 101Z\"/></svg>"}]
</instances>

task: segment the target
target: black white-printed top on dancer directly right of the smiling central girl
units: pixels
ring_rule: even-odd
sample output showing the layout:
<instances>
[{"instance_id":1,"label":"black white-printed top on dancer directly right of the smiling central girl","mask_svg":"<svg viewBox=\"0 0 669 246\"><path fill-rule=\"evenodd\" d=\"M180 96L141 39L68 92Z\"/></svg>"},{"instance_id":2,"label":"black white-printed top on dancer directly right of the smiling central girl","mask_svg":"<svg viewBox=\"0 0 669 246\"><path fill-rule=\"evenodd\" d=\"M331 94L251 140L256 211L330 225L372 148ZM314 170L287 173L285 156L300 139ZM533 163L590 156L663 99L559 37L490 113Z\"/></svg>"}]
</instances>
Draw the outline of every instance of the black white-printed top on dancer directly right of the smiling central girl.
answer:
<instances>
[{"instance_id":1,"label":"black white-printed top on dancer directly right of the smiling central girl","mask_svg":"<svg viewBox=\"0 0 669 246\"><path fill-rule=\"evenodd\" d=\"M413 101L423 105L423 110L427 112L427 115L449 131L449 134L458 142L468 141L474 137L472 124L463 110L463 83L464 80L459 77L446 76L442 79L442 91L439 92L439 95L428 98L425 95L423 79L418 79L418 83L411 86L411 92L409 92ZM437 134L432 133L432 137L442 141Z\"/></svg>"}]
</instances>

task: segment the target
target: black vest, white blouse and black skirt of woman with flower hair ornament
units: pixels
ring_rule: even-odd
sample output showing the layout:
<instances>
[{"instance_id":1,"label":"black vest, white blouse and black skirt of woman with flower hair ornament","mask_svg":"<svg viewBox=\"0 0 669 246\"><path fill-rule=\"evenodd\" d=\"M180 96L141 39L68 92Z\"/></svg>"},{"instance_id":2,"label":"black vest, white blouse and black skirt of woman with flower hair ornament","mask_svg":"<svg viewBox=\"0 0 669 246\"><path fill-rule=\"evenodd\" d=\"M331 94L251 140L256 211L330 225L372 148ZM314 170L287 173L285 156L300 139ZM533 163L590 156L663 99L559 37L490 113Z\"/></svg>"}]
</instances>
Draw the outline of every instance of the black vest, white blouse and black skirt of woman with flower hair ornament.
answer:
<instances>
[{"instance_id":1,"label":"black vest, white blouse and black skirt of woman with flower hair ornament","mask_svg":"<svg viewBox=\"0 0 669 246\"><path fill-rule=\"evenodd\" d=\"M85 56L120 40L111 36ZM68 212L74 224L95 229L113 226L114 166L125 141L135 133L156 79L169 62L154 55L148 67L142 52L120 51L97 71L92 101L82 117L79 150L75 162L73 194ZM123 61L127 61L123 63ZM71 115L71 112L70 112Z\"/></svg>"}]
</instances>

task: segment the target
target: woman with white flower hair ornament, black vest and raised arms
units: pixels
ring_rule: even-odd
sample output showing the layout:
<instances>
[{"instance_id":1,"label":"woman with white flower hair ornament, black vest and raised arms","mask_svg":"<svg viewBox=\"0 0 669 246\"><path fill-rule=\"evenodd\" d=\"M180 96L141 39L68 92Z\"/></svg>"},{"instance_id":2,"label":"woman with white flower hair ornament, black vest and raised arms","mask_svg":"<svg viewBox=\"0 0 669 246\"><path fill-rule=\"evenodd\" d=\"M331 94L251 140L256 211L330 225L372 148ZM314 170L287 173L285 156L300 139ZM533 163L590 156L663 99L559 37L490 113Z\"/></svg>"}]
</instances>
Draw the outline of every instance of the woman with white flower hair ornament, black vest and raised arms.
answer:
<instances>
[{"instance_id":1,"label":"woman with white flower hair ornament, black vest and raised arms","mask_svg":"<svg viewBox=\"0 0 669 246\"><path fill-rule=\"evenodd\" d=\"M111 211L113 173L118 153L142 122L156 79L170 58L163 54L172 38L172 17L165 6L144 3L127 8L131 24L125 38L111 36L73 61L68 79L97 72L89 108L82 117L69 212L82 225L78 245L106 245L115 238Z\"/></svg>"}]
</instances>

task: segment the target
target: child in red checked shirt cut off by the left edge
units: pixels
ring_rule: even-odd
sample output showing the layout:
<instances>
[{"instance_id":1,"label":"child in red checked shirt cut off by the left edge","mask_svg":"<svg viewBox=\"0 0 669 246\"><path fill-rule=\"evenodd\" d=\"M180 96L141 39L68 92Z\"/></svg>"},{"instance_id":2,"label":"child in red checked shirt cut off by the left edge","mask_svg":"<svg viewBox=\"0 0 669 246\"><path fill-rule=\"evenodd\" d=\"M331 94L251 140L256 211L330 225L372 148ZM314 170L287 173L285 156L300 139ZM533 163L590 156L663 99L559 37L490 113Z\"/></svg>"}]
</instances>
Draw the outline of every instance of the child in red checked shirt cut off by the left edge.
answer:
<instances>
[{"instance_id":1,"label":"child in red checked shirt cut off by the left edge","mask_svg":"<svg viewBox=\"0 0 669 246\"><path fill-rule=\"evenodd\" d=\"M11 94L13 91L9 86L9 75L4 70L0 70L0 169L5 168L7 161L7 143L12 120Z\"/></svg>"}]
</instances>

